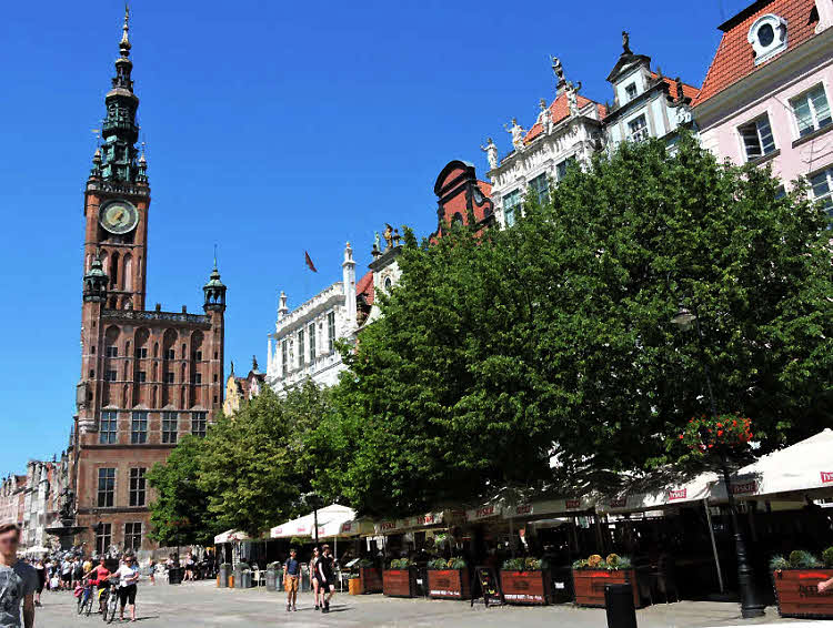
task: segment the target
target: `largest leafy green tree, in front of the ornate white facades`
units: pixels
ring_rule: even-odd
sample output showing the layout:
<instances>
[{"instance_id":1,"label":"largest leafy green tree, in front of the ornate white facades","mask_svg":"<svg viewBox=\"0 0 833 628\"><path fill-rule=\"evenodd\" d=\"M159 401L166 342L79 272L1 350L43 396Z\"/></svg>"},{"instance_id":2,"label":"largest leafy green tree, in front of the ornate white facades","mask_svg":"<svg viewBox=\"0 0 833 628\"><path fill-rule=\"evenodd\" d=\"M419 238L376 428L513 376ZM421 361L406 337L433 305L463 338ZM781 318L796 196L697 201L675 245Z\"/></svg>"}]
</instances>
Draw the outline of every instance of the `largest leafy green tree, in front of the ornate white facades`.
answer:
<instances>
[{"instance_id":1,"label":"largest leafy green tree, in front of the ornate white facades","mask_svg":"<svg viewBox=\"0 0 833 628\"><path fill-rule=\"evenodd\" d=\"M752 416L764 449L831 418L826 217L689 136L573 169L515 226L409 232L311 436L360 510L405 514L511 484L661 464L694 414ZM671 318L683 300L704 333ZM325 450L325 449L322 449ZM581 474L582 477L575 476Z\"/></svg>"}]
</instances>

